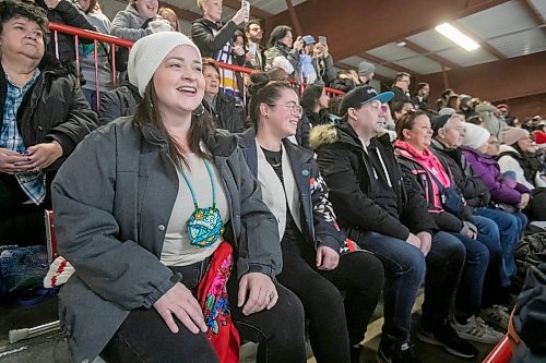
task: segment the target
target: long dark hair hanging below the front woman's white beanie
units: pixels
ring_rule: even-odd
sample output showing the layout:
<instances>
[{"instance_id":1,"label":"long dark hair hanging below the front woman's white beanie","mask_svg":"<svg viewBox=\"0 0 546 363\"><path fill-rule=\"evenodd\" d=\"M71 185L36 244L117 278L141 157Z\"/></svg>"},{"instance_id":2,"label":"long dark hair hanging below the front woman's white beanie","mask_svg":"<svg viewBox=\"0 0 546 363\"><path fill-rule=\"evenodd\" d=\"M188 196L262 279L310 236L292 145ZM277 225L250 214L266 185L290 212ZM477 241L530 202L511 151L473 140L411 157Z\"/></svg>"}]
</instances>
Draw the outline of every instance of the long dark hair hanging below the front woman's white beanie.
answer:
<instances>
[{"instance_id":1,"label":"long dark hair hanging below the front woman's white beanie","mask_svg":"<svg viewBox=\"0 0 546 363\"><path fill-rule=\"evenodd\" d=\"M181 167L182 164L188 166L183 153L180 153L177 147L176 140L169 135L165 125L162 121L161 112L157 108L158 98L155 92L154 82L150 82L146 86L144 97L136 108L134 113L133 122L140 126L152 125L157 128L165 140L167 141L168 154L177 167ZM213 132L212 120L206 112L203 112L202 106L200 105L195 111L191 114L191 125L188 132L188 147L190 152L203 159L211 159L211 157L201 150L200 142L202 138L206 138Z\"/></svg>"}]
</instances>

